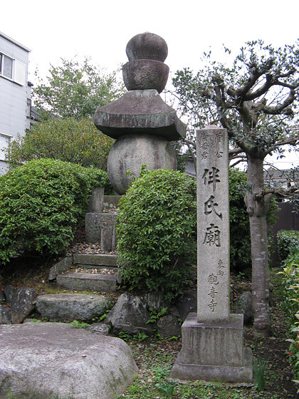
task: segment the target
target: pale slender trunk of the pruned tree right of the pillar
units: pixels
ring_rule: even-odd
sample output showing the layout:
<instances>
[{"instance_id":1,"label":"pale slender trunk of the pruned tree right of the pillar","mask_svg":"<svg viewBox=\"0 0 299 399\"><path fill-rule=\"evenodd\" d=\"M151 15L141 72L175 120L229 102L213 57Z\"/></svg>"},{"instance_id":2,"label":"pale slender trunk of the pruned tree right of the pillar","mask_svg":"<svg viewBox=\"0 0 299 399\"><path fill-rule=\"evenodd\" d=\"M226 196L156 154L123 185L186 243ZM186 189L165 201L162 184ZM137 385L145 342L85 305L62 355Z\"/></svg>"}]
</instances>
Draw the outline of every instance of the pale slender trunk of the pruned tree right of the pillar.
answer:
<instances>
[{"instance_id":1,"label":"pale slender trunk of the pruned tree right of the pillar","mask_svg":"<svg viewBox=\"0 0 299 399\"><path fill-rule=\"evenodd\" d=\"M263 159L248 155L245 202L249 214L252 257L253 333L271 334L267 214L271 196L263 195Z\"/></svg>"}]
</instances>

